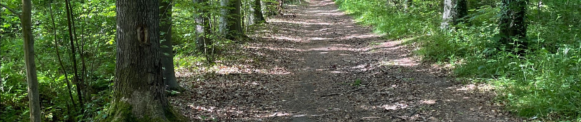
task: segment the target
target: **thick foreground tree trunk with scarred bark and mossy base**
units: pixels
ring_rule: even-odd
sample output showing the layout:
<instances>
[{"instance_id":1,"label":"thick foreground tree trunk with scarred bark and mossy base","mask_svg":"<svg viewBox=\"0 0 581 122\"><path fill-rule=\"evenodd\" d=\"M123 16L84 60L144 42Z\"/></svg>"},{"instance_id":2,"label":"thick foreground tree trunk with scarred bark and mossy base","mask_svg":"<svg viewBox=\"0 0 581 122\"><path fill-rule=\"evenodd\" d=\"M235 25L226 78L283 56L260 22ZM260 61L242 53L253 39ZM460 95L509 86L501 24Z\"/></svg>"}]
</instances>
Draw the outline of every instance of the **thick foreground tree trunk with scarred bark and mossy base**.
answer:
<instances>
[{"instance_id":1,"label":"thick foreground tree trunk with scarred bark and mossy base","mask_svg":"<svg viewBox=\"0 0 581 122\"><path fill-rule=\"evenodd\" d=\"M117 0L117 60L104 121L183 121L166 98L159 43L159 2Z\"/></svg>"}]
</instances>

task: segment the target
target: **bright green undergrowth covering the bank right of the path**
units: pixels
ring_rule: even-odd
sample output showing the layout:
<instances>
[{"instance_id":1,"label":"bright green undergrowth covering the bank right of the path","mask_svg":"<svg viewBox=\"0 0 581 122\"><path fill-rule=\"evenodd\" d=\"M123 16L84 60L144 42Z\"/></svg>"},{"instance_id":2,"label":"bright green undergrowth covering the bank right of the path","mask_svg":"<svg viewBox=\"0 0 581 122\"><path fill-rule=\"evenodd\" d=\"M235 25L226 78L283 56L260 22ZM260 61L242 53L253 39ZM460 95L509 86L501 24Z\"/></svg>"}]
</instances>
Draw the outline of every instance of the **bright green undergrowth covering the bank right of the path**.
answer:
<instances>
[{"instance_id":1,"label":"bright green undergrowth covering the bank right of the path","mask_svg":"<svg viewBox=\"0 0 581 122\"><path fill-rule=\"evenodd\" d=\"M529 1L529 50L498 47L500 1L468 1L467 21L442 31L442 1L336 0L339 8L389 38L419 44L426 61L451 64L462 79L496 86L498 101L523 117L581 120L580 1ZM414 38L410 38L413 36Z\"/></svg>"}]
</instances>

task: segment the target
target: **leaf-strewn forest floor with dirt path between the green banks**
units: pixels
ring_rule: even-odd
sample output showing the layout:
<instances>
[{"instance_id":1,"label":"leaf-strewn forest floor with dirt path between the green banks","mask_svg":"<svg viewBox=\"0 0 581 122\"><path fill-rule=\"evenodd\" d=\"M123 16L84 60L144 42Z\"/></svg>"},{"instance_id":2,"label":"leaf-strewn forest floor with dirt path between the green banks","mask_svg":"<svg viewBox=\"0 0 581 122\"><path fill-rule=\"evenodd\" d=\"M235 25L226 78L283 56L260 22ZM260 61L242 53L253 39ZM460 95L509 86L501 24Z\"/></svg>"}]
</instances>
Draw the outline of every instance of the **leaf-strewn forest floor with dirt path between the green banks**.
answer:
<instances>
[{"instance_id":1,"label":"leaf-strewn forest floor with dirt path between the green banks","mask_svg":"<svg viewBox=\"0 0 581 122\"><path fill-rule=\"evenodd\" d=\"M492 87L455 82L332 0L304 4L224 53L235 60L178 69L175 109L193 121L522 121Z\"/></svg>"}]
</instances>

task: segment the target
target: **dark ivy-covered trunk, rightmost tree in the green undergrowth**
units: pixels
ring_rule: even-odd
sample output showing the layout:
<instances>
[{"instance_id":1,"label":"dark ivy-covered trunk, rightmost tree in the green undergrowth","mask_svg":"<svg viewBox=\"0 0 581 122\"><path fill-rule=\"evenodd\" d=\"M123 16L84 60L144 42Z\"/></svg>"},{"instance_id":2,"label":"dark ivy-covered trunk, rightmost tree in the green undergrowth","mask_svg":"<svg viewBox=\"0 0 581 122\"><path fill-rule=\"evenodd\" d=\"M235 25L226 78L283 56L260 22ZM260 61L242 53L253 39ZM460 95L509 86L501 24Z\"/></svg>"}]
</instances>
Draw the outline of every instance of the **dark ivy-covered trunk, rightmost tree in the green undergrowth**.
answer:
<instances>
[{"instance_id":1,"label":"dark ivy-covered trunk, rightmost tree in the green undergrowth","mask_svg":"<svg viewBox=\"0 0 581 122\"><path fill-rule=\"evenodd\" d=\"M500 43L509 50L514 49L515 46L519 49L526 49L528 47L527 24L525 22L527 0L502 0L501 3L501 17L500 24L498 24L501 36ZM513 40L513 38L518 40Z\"/></svg>"}]
</instances>

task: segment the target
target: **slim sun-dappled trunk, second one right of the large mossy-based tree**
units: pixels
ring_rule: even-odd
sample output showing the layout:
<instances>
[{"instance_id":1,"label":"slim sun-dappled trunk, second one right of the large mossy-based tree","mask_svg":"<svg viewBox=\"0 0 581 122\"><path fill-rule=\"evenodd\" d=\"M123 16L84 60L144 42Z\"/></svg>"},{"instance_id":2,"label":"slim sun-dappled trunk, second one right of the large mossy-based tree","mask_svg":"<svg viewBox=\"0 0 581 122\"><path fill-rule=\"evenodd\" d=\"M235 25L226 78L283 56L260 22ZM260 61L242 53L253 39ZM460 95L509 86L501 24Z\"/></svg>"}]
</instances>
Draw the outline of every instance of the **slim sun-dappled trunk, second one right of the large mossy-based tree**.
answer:
<instances>
[{"instance_id":1,"label":"slim sun-dappled trunk, second one right of the large mossy-based tree","mask_svg":"<svg viewBox=\"0 0 581 122\"><path fill-rule=\"evenodd\" d=\"M206 6L205 0L193 0L193 3L199 4L200 6ZM209 27L210 21L203 16L203 14L207 13L206 9L198 9L198 13L200 14L197 14L195 18L196 23L198 23L198 25L196 25L196 34L198 34L196 45L198 46L199 51L207 53L208 50L206 50L206 46L211 45L211 40L206 37L207 34L211 34L211 28Z\"/></svg>"}]
</instances>

